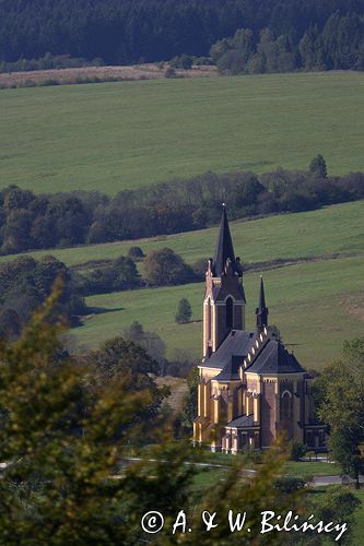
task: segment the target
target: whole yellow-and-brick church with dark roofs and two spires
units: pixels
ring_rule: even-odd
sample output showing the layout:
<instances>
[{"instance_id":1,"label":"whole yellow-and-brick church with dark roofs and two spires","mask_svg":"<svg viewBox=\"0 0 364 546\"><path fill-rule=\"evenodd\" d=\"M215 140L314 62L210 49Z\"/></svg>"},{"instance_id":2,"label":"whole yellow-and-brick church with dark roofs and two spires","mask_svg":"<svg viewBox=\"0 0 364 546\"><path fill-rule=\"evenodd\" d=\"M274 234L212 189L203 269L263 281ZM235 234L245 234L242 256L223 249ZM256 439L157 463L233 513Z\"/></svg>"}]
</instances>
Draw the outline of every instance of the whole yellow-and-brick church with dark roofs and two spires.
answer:
<instances>
[{"instance_id":1,"label":"whole yellow-and-brick church with dark roofs and two spires","mask_svg":"<svg viewBox=\"0 0 364 546\"><path fill-rule=\"evenodd\" d=\"M237 453L246 447L268 448L284 434L287 440L325 450L326 428L314 417L309 394L312 378L269 327L262 278L258 301L257 327L248 332L243 269L223 206L215 256L206 273L193 440Z\"/></svg>"}]
</instances>

